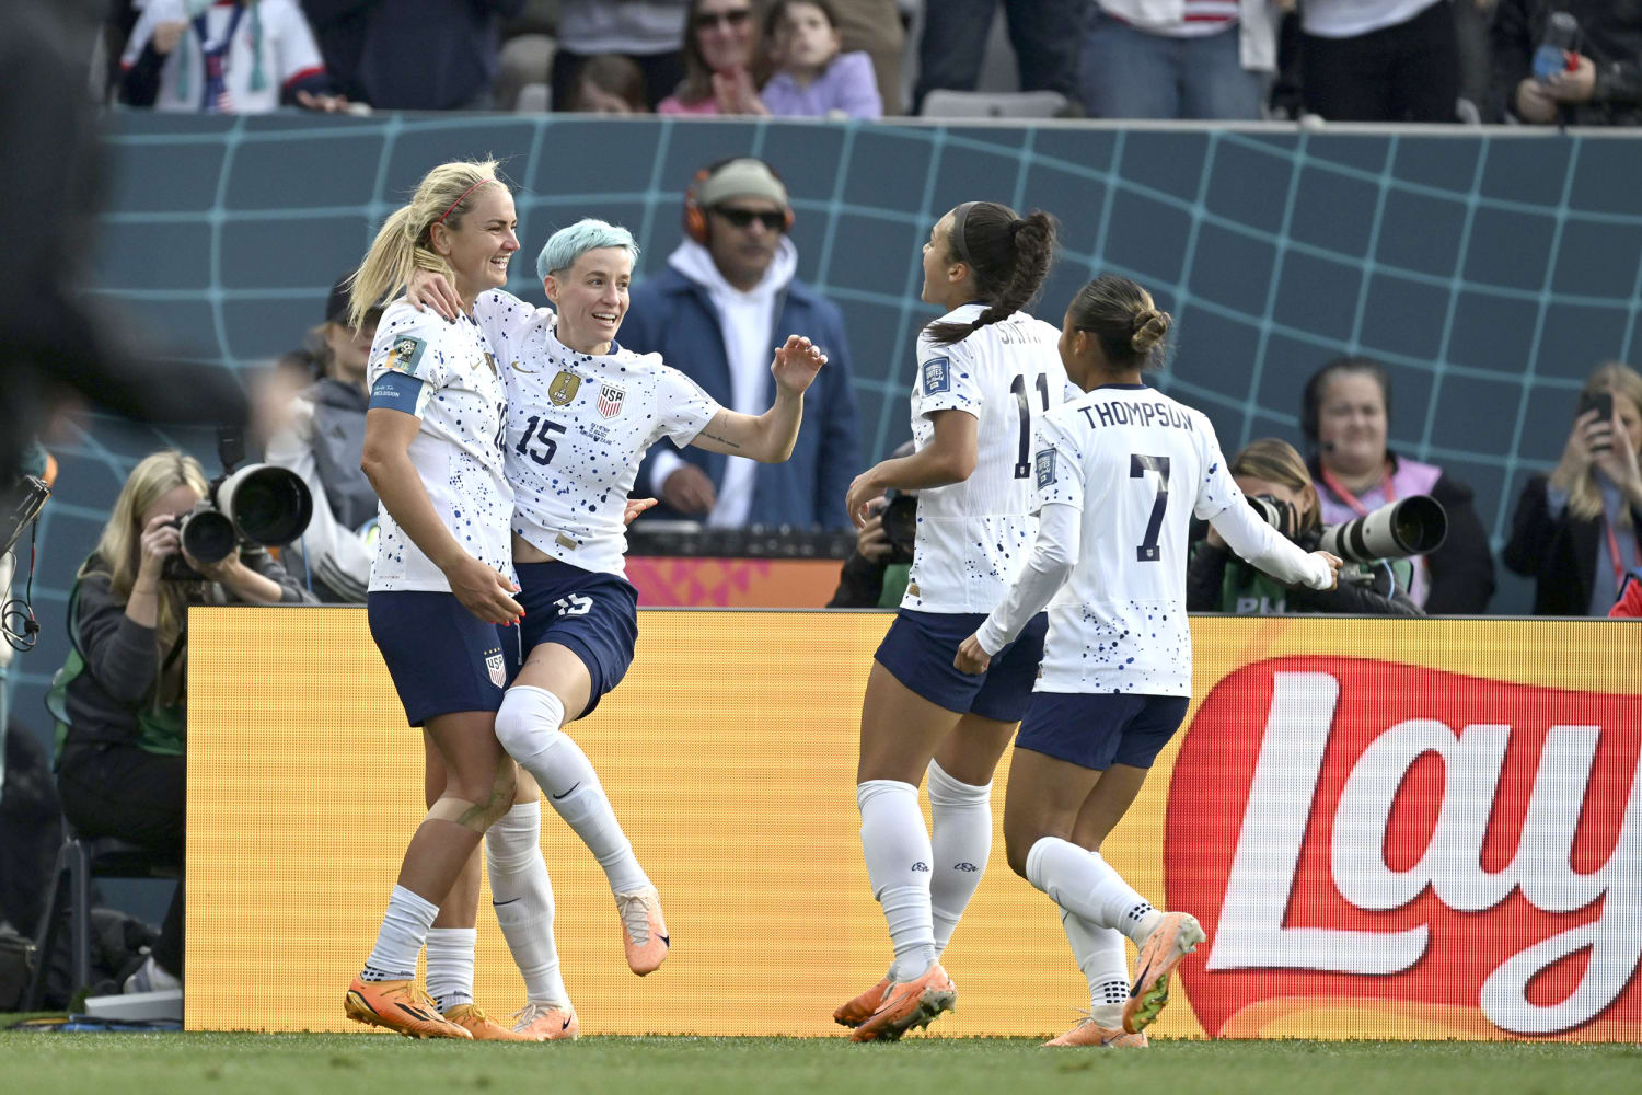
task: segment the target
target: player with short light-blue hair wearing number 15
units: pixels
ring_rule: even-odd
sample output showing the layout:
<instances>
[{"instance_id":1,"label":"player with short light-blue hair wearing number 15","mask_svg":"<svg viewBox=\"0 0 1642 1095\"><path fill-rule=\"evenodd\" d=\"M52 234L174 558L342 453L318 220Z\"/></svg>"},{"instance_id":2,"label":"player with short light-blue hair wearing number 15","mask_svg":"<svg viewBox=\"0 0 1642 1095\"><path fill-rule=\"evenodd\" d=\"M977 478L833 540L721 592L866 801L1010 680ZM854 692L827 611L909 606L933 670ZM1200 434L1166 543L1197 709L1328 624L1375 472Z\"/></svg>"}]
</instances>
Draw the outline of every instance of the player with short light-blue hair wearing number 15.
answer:
<instances>
[{"instance_id":1,"label":"player with short light-blue hair wearing number 15","mask_svg":"<svg viewBox=\"0 0 1642 1095\"><path fill-rule=\"evenodd\" d=\"M662 437L760 461L785 460L798 437L805 389L826 358L808 338L791 335L770 364L773 405L762 415L719 407L658 356L631 353L616 341L637 254L626 228L581 220L553 233L537 258L557 312L491 292L475 315L494 338L507 378L504 451L524 609L522 668L501 704L496 734L604 868L627 965L644 975L667 959L670 946L660 900L598 773L563 731L589 714L632 663L637 591L624 565L627 493L645 450ZM412 296L448 312L448 289L427 277Z\"/></svg>"}]
</instances>

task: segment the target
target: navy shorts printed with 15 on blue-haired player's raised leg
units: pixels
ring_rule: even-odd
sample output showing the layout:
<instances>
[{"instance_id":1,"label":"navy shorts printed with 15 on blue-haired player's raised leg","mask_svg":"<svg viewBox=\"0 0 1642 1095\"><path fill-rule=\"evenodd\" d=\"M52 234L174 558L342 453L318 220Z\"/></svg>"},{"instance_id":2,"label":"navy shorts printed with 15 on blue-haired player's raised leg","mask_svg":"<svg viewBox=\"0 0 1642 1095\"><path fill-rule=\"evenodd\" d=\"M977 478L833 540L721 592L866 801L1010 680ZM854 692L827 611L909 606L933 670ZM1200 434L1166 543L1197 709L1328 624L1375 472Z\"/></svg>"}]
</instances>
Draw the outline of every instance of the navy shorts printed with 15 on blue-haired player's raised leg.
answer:
<instances>
[{"instance_id":1,"label":"navy shorts printed with 15 on blue-haired player's raised leg","mask_svg":"<svg viewBox=\"0 0 1642 1095\"><path fill-rule=\"evenodd\" d=\"M530 652L544 642L568 647L588 667L593 688L583 717L599 706L599 696L616 688L632 665L639 640L639 591L621 575L581 570L570 563L516 563L524 607L514 635L507 681L517 676Z\"/></svg>"}]
</instances>

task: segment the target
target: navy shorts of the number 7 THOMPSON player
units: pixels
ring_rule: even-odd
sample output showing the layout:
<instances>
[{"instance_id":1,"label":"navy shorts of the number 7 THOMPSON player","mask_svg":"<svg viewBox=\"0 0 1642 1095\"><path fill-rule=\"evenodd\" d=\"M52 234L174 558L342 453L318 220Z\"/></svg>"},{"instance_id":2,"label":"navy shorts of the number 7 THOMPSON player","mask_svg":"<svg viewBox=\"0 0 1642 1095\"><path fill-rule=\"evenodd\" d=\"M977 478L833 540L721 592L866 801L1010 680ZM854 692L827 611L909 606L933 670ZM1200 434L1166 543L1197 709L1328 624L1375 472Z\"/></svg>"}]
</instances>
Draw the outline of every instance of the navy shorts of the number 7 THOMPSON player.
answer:
<instances>
[{"instance_id":1,"label":"navy shorts of the number 7 THOMPSON player","mask_svg":"<svg viewBox=\"0 0 1642 1095\"><path fill-rule=\"evenodd\" d=\"M1095 772L1149 768L1181 729L1187 706L1186 696L1033 693L1015 744Z\"/></svg>"}]
</instances>

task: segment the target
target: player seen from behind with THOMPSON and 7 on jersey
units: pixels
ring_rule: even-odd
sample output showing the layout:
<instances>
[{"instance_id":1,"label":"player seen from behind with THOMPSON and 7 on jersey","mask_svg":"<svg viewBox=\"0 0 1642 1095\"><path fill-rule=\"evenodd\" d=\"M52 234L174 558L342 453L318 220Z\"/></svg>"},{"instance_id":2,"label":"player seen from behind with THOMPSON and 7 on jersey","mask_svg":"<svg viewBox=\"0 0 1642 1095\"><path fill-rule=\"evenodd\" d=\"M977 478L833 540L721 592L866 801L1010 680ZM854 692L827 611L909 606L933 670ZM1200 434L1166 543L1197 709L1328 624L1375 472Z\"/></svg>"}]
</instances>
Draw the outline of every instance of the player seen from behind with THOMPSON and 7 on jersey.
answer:
<instances>
[{"instance_id":1,"label":"player seen from behind with THOMPSON and 7 on jersey","mask_svg":"<svg viewBox=\"0 0 1642 1095\"><path fill-rule=\"evenodd\" d=\"M1192 515L1282 581L1332 589L1340 568L1245 504L1202 412L1141 383L1143 369L1163 361L1169 323L1144 289L1110 274L1066 310L1061 358L1084 394L1043 417L1033 458L1038 538L954 662L964 673L987 671L1054 598L1003 804L1010 867L1061 906L1089 977L1090 1016L1051 1046L1144 1046L1169 974L1204 941L1194 916L1154 909L1100 859L1100 842L1190 701ZM1133 985L1123 936L1140 947Z\"/></svg>"}]
</instances>

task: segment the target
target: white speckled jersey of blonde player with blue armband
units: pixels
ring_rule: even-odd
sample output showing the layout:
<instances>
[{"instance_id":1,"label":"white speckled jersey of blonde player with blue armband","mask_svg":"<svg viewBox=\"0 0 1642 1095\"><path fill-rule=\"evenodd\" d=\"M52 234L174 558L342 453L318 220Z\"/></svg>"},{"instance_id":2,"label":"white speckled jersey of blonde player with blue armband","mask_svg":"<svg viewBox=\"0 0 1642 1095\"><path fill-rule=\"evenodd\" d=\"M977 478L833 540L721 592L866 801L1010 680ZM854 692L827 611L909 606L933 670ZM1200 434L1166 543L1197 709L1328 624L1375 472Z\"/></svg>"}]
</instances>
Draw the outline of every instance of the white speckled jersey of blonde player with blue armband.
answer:
<instances>
[{"instance_id":1,"label":"white speckled jersey of blonde player with blue armband","mask_svg":"<svg viewBox=\"0 0 1642 1095\"><path fill-rule=\"evenodd\" d=\"M383 312L371 343L371 407L422 420L410 438L410 463L433 511L476 560L512 576L512 488L502 466L507 397L496 358L479 325L455 323L396 300ZM379 537L371 589L450 591L445 573L410 542L378 504Z\"/></svg>"}]
</instances>

